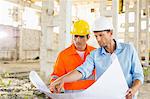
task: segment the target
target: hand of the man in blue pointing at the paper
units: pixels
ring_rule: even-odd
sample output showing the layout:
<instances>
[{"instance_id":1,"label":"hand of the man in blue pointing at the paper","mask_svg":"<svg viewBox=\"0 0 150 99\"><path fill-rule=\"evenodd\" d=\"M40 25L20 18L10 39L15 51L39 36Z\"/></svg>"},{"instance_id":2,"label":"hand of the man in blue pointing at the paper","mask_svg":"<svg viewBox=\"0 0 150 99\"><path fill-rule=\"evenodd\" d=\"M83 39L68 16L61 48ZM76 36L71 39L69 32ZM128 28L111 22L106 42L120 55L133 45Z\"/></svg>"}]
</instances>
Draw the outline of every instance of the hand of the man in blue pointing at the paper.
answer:
<instances>
[{"instance_id":1,"label":"hand of the man in blue pointing at the paper","mask_svg":"<svg viewBox=\"0 0 150 99\"><path fill-rule=\"evenodd\" d=\"M62 81L62 78L56 79L54 82L50 84L50 91L52 93L60 93L63 87L63 84L64 82Z\"/></svg>"}]
</instances>

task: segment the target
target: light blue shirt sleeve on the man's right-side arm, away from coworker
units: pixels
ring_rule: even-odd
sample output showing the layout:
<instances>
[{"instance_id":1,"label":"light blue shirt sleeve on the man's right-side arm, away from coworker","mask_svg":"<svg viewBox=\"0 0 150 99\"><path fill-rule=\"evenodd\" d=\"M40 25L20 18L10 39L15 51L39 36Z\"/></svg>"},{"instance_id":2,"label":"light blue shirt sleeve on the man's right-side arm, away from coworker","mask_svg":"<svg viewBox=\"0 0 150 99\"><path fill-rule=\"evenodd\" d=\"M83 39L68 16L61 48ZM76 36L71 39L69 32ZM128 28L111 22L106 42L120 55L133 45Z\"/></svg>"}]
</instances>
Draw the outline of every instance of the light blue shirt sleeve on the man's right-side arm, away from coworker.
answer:
<instances>
[{"instance_id":1,"label":"light blue shirt sleeve on the man's right-side arm, away from coworker","mask_svg":"<svg viewBox=\"0 0 150 99\"><path fill-rule=\"evenodd\" d=\"M131 72L133 74L133 81L138 79L143 84L144 83L143 69L140 60L138 58L138 54L133 45L131 45L131 50L133 51L131 57Z\"/></svg>"}]
</instances>

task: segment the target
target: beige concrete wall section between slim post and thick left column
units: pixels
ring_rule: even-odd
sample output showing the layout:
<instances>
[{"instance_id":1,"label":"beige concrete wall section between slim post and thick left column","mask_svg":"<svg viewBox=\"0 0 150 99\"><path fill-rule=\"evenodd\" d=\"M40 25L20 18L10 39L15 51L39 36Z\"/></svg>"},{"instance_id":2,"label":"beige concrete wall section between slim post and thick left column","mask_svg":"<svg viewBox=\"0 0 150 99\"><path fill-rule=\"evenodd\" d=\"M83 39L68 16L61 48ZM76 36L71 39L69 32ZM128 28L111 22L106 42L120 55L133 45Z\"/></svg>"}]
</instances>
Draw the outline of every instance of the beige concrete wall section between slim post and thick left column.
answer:
<instances>
[{"instance_id":1,"label":"beige concrete wall section between slim post and thick left column","mask_svg":"<svg viewBox=\"0 0 150 99\"><path fill-rule=\"evenodd\" d=\"M39 57L41 31L23 29L22 30L22 60L29 60Z\"/></svg>"}]
</instances>

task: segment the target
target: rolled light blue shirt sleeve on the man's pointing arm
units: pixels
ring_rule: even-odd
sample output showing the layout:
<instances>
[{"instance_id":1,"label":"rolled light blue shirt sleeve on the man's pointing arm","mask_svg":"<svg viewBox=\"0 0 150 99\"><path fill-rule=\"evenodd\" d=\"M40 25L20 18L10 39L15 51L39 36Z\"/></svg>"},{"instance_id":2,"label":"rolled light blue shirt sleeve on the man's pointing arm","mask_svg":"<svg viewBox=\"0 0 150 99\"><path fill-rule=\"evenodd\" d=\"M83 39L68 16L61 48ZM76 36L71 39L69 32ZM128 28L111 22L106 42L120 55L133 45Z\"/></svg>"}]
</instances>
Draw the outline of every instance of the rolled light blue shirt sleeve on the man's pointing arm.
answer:
<instances>
[{"instance_id":1,"label":"rolled light blue shirt sleeve on the man's pointing arm","mask_svg":"<svg viewBox=\"0 0 150 99\"><path fill-rule=\"evenodd\" d=\"M76 70L82 74L82 79L86 79L92 74L94 67L94 53L91 52L90 55L87 56L85 62L77 67Z\"/></svg>"}]
</instances>

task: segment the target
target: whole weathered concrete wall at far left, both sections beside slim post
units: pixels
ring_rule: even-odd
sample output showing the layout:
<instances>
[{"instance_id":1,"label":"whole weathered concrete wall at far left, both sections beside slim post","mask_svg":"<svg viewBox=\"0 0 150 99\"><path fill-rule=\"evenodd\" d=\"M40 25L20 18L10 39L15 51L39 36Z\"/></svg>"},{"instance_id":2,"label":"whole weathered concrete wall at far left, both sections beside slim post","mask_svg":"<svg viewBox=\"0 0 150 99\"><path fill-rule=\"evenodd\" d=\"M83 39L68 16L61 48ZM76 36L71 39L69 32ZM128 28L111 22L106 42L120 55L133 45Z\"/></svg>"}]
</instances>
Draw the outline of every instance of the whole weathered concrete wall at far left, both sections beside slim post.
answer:
<instances>
[{"instance_id":1,"label":"whole weathered concrete wall at far left, both sections beside slim post","mask_svg":"<svg viewBox=\"0 0 150 99\"><path fill-rule=\"evenodd\" d=\"M3 34L3 35L2 35ZM0 25L0 60L30 60L39 56L41 31ZM20 44L20 40L22 43ZM22 51L19 52L19 49ZM18 54L22 54L19 57Z\"/></svg>"}]
</instances>

